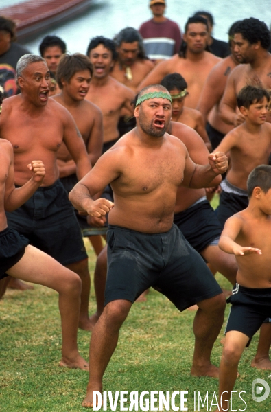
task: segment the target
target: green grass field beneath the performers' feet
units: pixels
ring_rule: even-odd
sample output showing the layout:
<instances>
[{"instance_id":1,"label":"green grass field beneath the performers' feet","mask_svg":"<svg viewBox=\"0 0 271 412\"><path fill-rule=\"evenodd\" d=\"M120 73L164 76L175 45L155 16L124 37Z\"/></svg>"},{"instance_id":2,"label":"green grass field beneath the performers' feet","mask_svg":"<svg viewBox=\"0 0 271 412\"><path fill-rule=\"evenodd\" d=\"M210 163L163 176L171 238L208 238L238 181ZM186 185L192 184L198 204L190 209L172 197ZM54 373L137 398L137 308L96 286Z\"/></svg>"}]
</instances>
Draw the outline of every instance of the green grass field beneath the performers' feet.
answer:
<instances>
[{"instance_id":1,"label":"green grass field beneath the performers' feet","mask_svg":"<svg viewBox=\"0 0 271 412\"><path fill-rule=\"evenodd\" d=\"M93 274L95 256L90 249L89 256ZM217 279L222 287L229 287L221 275L217 275ZM89 309L90 313L95 311L93 290ZM58 367L61 337L57 294L43 286L24 293L8 290L0 301L0 310L0 412L84 411L80 405L88 374ZM117 350L104 376L104 390L112 391L113 396L115 391L189 391L188 411L194 411L193 391L200 391L202 396L209 391L213 396L213 392L217 392L217 380L189 375L194 315L195 312L189 311L180 314L165 297L150 290L148 301L134 304L121 328ZM89 337L89 332L79 331L78 345L85 358L89 356ZM220 338L212 354L215 365L219 365L222 354ZM263 378L271 384L270 372L250 367L256 346L257 336L241 358L235 390L247 392L244 394L246 411L270 412L271 395L259 404L251 398L252 380ZM241 401L233 405L235 410L244 409ZM178 398L176 406L180 406Z\"/></svg>"}]
</instances>

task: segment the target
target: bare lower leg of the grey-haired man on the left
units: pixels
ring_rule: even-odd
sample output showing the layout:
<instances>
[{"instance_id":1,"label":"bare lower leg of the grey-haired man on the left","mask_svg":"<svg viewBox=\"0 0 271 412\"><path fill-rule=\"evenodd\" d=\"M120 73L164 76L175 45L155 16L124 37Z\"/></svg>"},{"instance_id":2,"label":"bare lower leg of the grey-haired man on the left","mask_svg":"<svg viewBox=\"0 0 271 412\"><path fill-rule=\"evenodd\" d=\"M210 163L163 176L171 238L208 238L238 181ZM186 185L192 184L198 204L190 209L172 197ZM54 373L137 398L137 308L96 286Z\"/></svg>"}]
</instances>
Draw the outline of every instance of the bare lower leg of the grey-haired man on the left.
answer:
<instances>
[{"instance_id":1,"label":"bare lower leg of the grey-haired man on the left","mask_svg":"<svg viewBox=\"0 0 271 412\"><path fill-rule=\"evenodd\" d=\"M66 267L77 273L82 280L81 306L79 314L79 328L83 330L93 330L95 323L89 319L89 294L91 290L91 277L89 275L88 259L67 264Z\"/></svg>"}]
</instances>

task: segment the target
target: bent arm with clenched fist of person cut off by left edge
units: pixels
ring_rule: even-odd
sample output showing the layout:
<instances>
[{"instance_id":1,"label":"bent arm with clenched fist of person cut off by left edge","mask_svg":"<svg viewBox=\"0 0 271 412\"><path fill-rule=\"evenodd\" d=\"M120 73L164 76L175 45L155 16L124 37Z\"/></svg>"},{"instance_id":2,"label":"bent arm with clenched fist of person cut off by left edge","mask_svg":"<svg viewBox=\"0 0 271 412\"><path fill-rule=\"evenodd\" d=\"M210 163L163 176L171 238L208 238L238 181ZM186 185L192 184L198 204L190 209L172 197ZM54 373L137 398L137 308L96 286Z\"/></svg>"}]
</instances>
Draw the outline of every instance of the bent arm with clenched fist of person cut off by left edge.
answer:
<instances>
[{"instance_id":1,"label":"bent arm with clenched fist of person cut off by left edge","mask_svg":"<svg viewBox=\"0 0 271 412\"><path fill-rule=\"evenodd\" d=\"M45 167L40 160L34 160L27 168L32 172L30 180L21 187L15 188L14 186L14 163L13 163L13 149L10 145L10 168L8 170L8 178L5 181L5 198L4 207L5 211L14 211L23 203L25 203L36 192L38 187L43 183L45 176Z\"/></svg>"}]
</instances>

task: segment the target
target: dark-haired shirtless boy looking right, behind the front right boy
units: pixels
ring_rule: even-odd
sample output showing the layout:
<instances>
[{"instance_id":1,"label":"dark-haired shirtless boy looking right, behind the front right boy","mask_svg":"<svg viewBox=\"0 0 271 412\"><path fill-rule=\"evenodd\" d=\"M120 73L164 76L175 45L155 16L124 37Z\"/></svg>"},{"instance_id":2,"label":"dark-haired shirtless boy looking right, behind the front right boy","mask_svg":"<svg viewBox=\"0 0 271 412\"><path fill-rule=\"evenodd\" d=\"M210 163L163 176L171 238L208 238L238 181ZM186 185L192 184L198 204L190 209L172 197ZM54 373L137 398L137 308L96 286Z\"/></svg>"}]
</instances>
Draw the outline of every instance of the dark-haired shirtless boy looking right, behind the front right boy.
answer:
<instances>
[{"instance_id":1,"label":"dark-haired shirtless boy looking right, behind the front right boy","mask_svg":"<svg viewBox=\"0 0 271 412\"><path fill-rule=\"evenodd\" d=\"M266 122L270 96L266 89L246 86L237 95L237 105L244 116L244 123L224 137L217 150L231 156L231 169L222 182L217 217L221 224L235 213L248 207L247 179L258 165L268 164L271 152L271 124ZM252 366L271 369L269 348L271 323L263 323L258 350Z\"/></svg>"}]
</instances>

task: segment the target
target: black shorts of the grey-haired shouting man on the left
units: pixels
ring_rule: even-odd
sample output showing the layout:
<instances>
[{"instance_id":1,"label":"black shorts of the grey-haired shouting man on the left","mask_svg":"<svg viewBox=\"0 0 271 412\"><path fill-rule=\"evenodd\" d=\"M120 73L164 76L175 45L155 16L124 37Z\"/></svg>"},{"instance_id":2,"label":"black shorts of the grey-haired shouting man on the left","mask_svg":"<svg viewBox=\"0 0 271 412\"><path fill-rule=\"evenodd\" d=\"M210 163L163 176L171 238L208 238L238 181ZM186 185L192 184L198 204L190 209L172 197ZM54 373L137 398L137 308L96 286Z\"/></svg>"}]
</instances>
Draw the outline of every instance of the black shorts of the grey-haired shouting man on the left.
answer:
<instances>
[{"instance_id":1,"label":"black shorts of the grey-haired shouting man on the left","mask_svg":"<svg viewBox=\"0 0 271 412\"><path fill-rule=\"evenodd\" d=\"M10 228L61 264L87 258L73 206L59 180L39 187L23 206L6 215Z\"/></svg>"}]
</instances>

